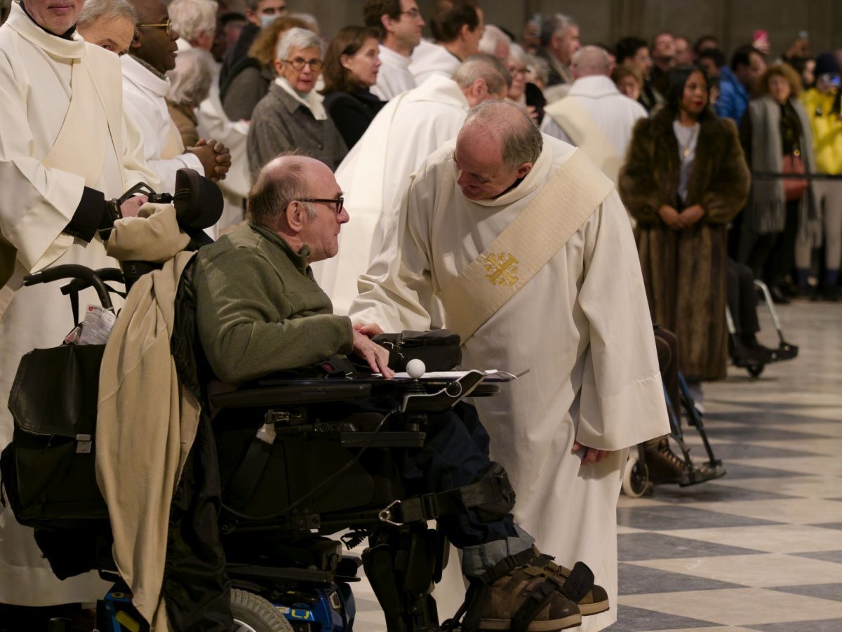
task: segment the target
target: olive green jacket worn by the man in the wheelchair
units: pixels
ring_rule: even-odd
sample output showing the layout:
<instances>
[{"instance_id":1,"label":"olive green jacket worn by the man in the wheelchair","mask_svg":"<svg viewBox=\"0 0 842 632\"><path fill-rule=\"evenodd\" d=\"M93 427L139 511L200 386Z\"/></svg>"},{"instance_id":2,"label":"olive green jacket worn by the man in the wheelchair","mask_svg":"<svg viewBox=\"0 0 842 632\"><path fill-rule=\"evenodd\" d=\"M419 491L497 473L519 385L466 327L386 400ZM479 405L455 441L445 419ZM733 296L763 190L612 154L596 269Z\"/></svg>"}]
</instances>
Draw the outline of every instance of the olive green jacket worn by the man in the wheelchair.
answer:
<instances>
[{"instance_id":1,"label":"olive green jacket worn by the man in the wheelchair","mask_svg":"<svg viewBox=\"0 0 842 632\"><path fill-rule=\"evenodd\" d=\"M307 266L309 253L252 224L199 251L199 337L220 380L240 384L351 352L351 321L333 315Z\"/></svg>"}]
</instances>

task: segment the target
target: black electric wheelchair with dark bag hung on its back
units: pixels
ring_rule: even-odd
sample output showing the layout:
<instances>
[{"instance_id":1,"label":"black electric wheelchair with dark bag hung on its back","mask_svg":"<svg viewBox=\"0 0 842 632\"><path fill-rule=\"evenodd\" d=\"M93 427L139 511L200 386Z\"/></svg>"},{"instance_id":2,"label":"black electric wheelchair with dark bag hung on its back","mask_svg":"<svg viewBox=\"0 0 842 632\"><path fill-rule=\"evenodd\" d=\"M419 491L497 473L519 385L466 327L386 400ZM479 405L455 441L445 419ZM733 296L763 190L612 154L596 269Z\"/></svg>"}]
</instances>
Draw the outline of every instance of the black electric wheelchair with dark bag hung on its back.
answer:
<instances>
[{"instance_id":1,"label":"black electric wheelchair with dark bag hung on its back","mask_svg":"<svg viewBox=\"0 0 842 632\"><path fill-rule=\"evenodd\" d=\"M184 210L202 198L193 191L189 199L191 187L204 185L195 175L180 177ZM200 242L208 221L193 217L182 226ZM108 283L125 283L127 292L155 268L148 262L125 262L122 271L56 266L26 284L71 279L62 292L74 312L88 286L109 308ZM469 371L383 380L330 358L233 390L212 380L192 300L184 274L170 343L179 381L204 405L170 507L163 594L173 627L231 629L233 622L233 629L253 632L350 630L350 586L359 581L360 560L343 555L342 544L352 548L368 539L361 565L388 629L440 629L430 593L448 547L427 521L466 507L505 513L514 492L502 468L494 468L472 485L419 493L405 484L402 459L424 446L431 416L466 406L466 396L493 396L512 377ZM24 357L9 404L13 443L0 465L16 517L35 528L56 575L97 570L115 581L99 604L98 629L142 630L147 624L132 608L111 556L108 507L94 475L103 349L64 345ZM45 366L54 368L51 374L38 370ZM60 392L45 392L51 385ZM334 539L340 532L343 542Z\"/></svg>"}]
</instances>

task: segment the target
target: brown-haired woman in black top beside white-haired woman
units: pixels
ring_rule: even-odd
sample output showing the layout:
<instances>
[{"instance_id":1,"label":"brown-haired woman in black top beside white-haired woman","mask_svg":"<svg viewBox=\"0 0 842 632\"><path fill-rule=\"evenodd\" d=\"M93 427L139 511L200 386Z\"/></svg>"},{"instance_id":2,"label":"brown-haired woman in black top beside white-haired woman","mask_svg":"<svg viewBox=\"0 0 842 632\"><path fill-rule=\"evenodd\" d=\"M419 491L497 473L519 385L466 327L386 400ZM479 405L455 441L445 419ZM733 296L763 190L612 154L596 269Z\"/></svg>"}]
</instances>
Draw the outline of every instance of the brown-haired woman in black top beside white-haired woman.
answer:
<instances>
[{"instance_id":1,"label":"brown-haired woman in black top beside white-haired woman","mask_svg":"<svg viewBox=\"0 0 842 632\"><path fill-rule=\"evenodd\" d=\"M379 69L377 32L362 26L340 29L324 56L324 107L349 149L386 105L369 89Z\"/></svg>"}]
</instances>

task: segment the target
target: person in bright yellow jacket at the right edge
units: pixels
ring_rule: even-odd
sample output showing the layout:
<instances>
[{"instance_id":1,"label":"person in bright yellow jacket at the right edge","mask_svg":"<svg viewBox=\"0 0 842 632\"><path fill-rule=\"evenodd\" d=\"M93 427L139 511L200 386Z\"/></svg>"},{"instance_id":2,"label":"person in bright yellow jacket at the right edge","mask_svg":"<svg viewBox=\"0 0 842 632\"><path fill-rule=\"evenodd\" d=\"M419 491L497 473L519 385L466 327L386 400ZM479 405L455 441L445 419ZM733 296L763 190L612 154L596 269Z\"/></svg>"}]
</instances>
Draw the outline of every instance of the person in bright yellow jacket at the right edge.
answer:
<instances>
[{"instance_id":1,"label":"person in bright yellow jacket at the right edge","mask_svg":"<svg viewBox=\"0 0 842 632\"><path fill-rule=\"evenodd\" d=\"M839 63L833 53L816 58L816 85L802 93L802 104L813 128L816 171L842 175L842 90ZM839 300L839 265L842 262L842 178L816 180L817 206L823 206L824 299ZM802 242L799 247L805 247ZM809 247L809 245L807 245ZM798 283L807 286L807 270L798 270Z\"/></svg>"}]
</instances>

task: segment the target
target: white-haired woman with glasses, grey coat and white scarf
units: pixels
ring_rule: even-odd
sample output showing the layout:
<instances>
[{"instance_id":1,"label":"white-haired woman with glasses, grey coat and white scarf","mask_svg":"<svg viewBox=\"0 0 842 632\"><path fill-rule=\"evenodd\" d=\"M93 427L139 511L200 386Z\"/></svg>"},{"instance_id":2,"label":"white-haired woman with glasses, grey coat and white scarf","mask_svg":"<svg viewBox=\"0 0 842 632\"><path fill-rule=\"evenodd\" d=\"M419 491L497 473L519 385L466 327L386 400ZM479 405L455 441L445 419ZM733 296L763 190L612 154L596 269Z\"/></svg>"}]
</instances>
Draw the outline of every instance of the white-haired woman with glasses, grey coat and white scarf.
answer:
<instances>
[{"instance_id":1,"label":"white-haired woman with glasses, grey coat and white scarf","mask_svg":"<svg viewBox=\"0 0 842 632\"><path fill-rule=\"evenodd\" d=\"M306 29L290 29L278 42L278 77L254 108L248 130L248 168L260 167L285 151L299 150L332 170L348 153L336 125L313 89L322 73L322 40Z\"/></svg>"}]
</instances>

